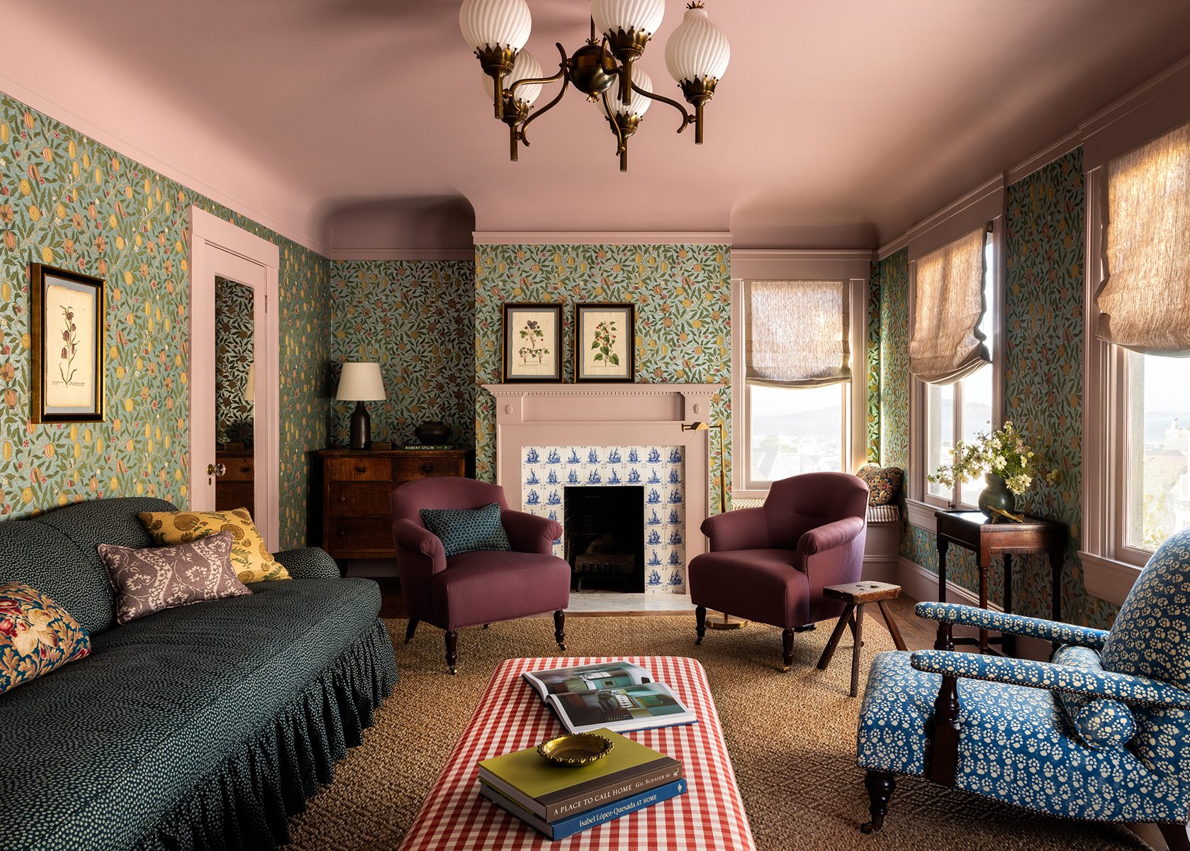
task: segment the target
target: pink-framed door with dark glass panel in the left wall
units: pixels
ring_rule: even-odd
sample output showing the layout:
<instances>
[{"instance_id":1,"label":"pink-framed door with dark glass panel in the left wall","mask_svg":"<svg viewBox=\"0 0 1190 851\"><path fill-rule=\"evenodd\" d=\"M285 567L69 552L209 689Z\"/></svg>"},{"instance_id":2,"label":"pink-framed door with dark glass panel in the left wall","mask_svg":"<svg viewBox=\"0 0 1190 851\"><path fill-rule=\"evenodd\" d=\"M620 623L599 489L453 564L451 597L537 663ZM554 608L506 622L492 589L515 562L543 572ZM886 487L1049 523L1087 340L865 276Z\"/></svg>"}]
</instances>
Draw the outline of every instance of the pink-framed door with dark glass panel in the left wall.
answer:
<instances>
[{"instance_id":1,"label":"pink-framed door with dark glass panel in the left wall","mask_svg":"<svg viewBox=\"0 0 1190 851\"><path fill-rule=\"evenodd\" d=\"M250 489L252 520L265 546L275 552L280 549L280 252L273 243L198 207L192 206L189 214L189 508L214 511L217 503L223 505L220 492L224 499L233 499L228 493ZM228 301L251 319L232 323L227 315ZM217 304L223 308L219 314L225 324L234 325L234 331L220 331ZM220 338L226 343L227 333L245 332L250 343L242 340L233 356L250 359L240 361L238 367L221 364ZM225 411L232 401L239 409L233 421ZM250 420L244 417L246 412ZM251 423L250 440L245 437L246 421ZM239 444L239 449L230 449L228 444Z\"/></svg>"}]
</instances>

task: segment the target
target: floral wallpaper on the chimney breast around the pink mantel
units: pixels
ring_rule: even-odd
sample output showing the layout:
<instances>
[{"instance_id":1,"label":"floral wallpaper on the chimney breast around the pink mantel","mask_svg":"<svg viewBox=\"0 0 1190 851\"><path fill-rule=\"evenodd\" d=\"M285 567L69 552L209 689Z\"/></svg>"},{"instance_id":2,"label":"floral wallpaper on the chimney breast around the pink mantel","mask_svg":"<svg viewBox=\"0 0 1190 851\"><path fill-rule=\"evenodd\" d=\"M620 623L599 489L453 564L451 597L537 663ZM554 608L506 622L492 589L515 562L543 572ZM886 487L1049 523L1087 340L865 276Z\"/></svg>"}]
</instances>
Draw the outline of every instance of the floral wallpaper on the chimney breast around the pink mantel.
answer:
<instances>
[{"instance_id":1,"label":"floral wallpaper on the chimney breast around the pink mantel","mask_svg":"<svg viewBox=\"0 0 1190 851\"><path fill-rule=\"evenodd\" d=\"M501 381L500 306L505 301L564 305L565 381L574 380L572 305L632 301L637 306L638 382L724 384L712 398L712 421L726 426L722 457L712 458L710 489L718 490L719 477L731 475L727 245L476 245L475 251L476 384ZM493 403L488 392L476 389L476 477L486 481L495 478Z\"/></svg>"}]
</instances>

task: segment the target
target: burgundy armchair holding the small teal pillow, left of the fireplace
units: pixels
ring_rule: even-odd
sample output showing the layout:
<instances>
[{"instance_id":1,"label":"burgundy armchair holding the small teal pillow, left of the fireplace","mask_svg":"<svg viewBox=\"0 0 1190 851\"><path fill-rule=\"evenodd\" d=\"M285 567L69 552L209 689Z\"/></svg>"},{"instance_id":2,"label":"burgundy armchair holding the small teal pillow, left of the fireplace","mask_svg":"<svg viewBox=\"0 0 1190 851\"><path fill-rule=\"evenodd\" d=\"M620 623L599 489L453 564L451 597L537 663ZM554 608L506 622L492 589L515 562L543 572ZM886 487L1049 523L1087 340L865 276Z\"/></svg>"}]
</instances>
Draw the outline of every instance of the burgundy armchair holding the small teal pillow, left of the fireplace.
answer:
<instances>
[{"instance_id":1,"label":"burgundy armchair holding the small teal pillow, left of the fireplace","mask_svg":"<svg viewBox=\"0 0 1190 851\"><path fill-rule=\"evenodd\" d=\"M393 543L401 595L409 613L405 643L419 621L446 631L446 664L456 672L457 631L466 626L553 612L555 639L566 650L570 565L556 558L555 520L511 511L505 489L474 478L449 476L406 482L390 496ZM482 508L497 502L512 551L477 550L446 558L443 543L421 523L422 508Z\"/></svg>"}]
</instances>

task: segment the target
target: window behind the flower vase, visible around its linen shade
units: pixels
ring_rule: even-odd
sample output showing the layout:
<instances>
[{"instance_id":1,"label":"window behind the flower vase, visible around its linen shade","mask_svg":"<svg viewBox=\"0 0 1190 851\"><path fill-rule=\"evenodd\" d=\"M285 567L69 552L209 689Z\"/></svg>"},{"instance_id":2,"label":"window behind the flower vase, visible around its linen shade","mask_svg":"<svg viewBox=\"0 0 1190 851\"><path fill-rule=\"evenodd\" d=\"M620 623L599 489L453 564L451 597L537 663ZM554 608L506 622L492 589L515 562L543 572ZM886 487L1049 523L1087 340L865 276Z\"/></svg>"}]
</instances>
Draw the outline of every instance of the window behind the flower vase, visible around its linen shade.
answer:
<instances>
[{"instance_id":1,"label":"window behind the flower vase, visible around its linen shade","mask_svg":"<svg viewBox=\"0 0 1190 851\"><path fill-rule=\"evenodd\" d=\"M987 308L979 321L979 331L992 362L953 384L922 383L925 395L925 432L926 432L926 468L925 475L934 474L939 467L951 463L951 450L954 449L956 436L959 440L970 443L981 433L998 427L1000 418L994 406L996 402L995 376L997 355L995 343L996 306L994 270L995 244L992 234L984 239L983 296ZM985 483L982 477L956 482L953 488L926 481L925 502L940 508L957 506L975 507L979 492Z\"/></svg>"}]
</instances>

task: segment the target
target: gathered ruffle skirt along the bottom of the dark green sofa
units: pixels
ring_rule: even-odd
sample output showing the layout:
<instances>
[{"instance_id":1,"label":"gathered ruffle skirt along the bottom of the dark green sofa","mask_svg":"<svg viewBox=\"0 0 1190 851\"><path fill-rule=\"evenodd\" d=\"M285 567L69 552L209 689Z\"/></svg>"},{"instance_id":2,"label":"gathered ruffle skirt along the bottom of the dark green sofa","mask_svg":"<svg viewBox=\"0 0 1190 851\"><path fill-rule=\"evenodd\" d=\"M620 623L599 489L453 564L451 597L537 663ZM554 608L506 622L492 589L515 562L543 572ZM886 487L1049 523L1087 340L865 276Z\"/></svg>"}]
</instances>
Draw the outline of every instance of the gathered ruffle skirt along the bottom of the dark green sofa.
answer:
<instances>
[{"instance_id":1,"label":"gathered ruffle skirt along the bottom of the dark green sofa","mask_svg":"<svg viewBox=\"0 0 1190 851\"><path fill-rule=\"evenodd\" d=\"M137 851L275 849L334 761L363 742L397 681L380 619L249 742L194 784L133 846Z\"/></svg>"}]
</instances>

